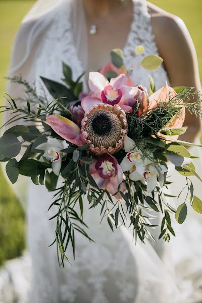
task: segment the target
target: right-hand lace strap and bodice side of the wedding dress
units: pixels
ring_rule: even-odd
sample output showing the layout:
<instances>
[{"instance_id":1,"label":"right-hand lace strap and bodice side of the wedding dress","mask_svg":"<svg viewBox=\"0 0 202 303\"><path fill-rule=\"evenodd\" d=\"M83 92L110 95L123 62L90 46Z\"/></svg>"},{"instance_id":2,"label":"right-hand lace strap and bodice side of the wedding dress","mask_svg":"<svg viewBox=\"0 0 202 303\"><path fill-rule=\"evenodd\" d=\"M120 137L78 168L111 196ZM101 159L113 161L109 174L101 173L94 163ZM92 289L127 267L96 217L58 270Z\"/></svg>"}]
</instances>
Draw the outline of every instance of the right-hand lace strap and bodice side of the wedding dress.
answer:
<instances>
[{"instance_id":1,"label":"right-hand lace strap and bodice side of the wedding dress","mask_svg":"<svg viewBox=\"0 0 202 303\"><path fill-rule=\"evenodd\" d=\"M136 55L135 47L137 45L144 47L143 54ZM140 66L143 57L153 54L159 55L146 0L133 0L133 22L123 52L126 66L134 69L135 84L142 84L148 89L148 75L153 76L157 88L163 86L166 80L169 81L163 66L157 71L147 71Z\"/></svg>"}]
</instances>

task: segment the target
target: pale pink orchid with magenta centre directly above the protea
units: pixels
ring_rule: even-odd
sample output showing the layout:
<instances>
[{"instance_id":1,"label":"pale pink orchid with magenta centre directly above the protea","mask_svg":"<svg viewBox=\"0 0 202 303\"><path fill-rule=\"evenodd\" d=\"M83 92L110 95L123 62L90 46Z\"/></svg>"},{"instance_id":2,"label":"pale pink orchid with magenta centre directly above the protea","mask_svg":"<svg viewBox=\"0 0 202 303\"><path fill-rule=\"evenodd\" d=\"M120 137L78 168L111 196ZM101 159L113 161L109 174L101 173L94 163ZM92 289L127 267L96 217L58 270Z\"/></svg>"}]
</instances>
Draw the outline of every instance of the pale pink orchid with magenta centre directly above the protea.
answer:
<instances>
[{"instance_id":1,"label":"pale pink orchid with magenta centre directly above the protea","mask_svg":"<svg viewBox=\"0 0 202 303\"><path fill-rule=\"evenodd\" d=\"M133 106L136 104L136 94L138 87L127 86L128 78L124 74L120 74L116 78L108 79L98 73L89 73L89 88L91 95L86 96L81 101L81 106L85 112L88 112L94 105L99 103L110 104L114 106L118 104L124 111L132 112Z\"/></svg>"}]
</instances>

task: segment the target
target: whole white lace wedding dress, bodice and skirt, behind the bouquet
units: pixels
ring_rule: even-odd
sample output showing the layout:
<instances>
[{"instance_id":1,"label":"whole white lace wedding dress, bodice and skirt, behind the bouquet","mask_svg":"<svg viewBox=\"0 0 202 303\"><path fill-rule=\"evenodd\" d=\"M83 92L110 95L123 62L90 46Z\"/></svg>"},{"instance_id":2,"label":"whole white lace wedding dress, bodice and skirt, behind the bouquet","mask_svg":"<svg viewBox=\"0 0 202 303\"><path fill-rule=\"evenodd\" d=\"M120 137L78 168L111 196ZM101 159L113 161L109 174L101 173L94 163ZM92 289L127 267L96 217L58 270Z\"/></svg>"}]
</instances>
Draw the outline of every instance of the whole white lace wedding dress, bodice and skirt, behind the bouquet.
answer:
<instances>
[{"instance_id":1,"label":"whole white lace wedding dress, bodice and skirt, behind the bouquet","mask_svg":"<svg viewBox=\"0 0 202 303\"><path fill-rule=\"evenodd\" d=\"M123 51L126 65L134 67L135 83L141 83L148 88L148 71L139 66L142 56L136 56L134 48L136 45L143 45L144 55L158 54L158 49L146 1L133 0L133 6L134 18ZM71 65L74 79L83 72L73 41L70 14L67 2L63 9L58 10L54 22L49 25L42 39L35 62L37 83L40 81L39 76L61 81L62 61ZM163 67L151 72L151 75L157 88L163 86L167 80ZM167 275L161 270L156 273L156 264L159 264L159 268L162 266L158 257L155 257L155 265L150 261L150 256L155 254L153 248L149 244L135 246L132 232L124 227L115 234L111 233L106 222L98 227L100 210L88 210L86 200L84 221L89 226L95 243L89 243L83 236L76 234L76 261L72 262L72 266L67 264L65 270L59 269L56 247L47 247L55 232L55 222L47 220L47 208L52 193L47 193L44 187L36 188L30 184L29 197L28 233L34 272L31 302L132 303L140 302L141 298L141 303L146 303L151 301L151 293L153 302L162 302L161 297L166 293L163 291L163 283ZM168 301L171 297L169 293ZM166 300L167 298L164 303Z\"/></svg>"}]
</instances>

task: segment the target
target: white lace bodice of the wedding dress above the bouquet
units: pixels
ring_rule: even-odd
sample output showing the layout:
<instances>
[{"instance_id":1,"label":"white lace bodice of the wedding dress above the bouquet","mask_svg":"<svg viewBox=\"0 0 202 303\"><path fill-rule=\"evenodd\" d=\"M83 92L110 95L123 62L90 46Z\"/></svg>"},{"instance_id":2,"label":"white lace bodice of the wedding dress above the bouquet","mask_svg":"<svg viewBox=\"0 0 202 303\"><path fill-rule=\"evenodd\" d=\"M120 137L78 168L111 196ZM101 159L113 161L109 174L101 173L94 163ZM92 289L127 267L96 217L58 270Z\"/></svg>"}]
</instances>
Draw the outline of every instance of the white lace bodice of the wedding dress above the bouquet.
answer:
<instances>
[{"instance_id":1,"label":"white lace bodice of the wedding dress above the bouquet","mask_svg":"<svg viewBox=\"0 0 202 303\"><path fill-rule=\"evenodd\" d=\"M148 75L150 74L155 79L156 88L160 88L166 80L168 81L163 66L155 72L148 72L139 65L143 56L159 55L146 1L133 0L133 10L133 21L123 49L126 66L134 68L132 77L137 85L142 84L148 88ZM42 40L42 45L38 49L39 54L36 56L38 58L36 78L42 75L61 81L62 61L71 65L74 79L83 72L83 64L73 41L70 14L71 10L67 3L63 10L58 10L54 22L49 26ZM137 45L144 47L144 54L138 56L135 54L135 46Z\"/></svg>"}]
</instances>

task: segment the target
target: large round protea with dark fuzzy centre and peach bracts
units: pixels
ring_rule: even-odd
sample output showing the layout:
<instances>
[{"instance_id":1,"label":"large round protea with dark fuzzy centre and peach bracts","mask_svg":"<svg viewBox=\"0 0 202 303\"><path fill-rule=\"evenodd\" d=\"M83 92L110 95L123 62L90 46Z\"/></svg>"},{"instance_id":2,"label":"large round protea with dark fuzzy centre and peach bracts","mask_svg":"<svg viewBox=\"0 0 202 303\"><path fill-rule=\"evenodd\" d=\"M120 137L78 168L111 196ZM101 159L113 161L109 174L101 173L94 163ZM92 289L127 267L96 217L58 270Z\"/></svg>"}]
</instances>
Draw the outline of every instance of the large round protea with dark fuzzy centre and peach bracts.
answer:
<instances>
[{"instance_id":1,"label":"large round protea with dark fuzzy centre and peach bracts","mask_svg":"<svg viewBox=\"0 0 202 303\"><path fill-rule=\"evenodd\" d=\"M123 147L128 132L126 114L118 105L96 104L85 113L81 131L92 153L114 154Z\"/></svg>"}]
</instances>

